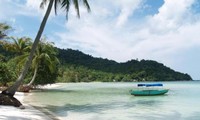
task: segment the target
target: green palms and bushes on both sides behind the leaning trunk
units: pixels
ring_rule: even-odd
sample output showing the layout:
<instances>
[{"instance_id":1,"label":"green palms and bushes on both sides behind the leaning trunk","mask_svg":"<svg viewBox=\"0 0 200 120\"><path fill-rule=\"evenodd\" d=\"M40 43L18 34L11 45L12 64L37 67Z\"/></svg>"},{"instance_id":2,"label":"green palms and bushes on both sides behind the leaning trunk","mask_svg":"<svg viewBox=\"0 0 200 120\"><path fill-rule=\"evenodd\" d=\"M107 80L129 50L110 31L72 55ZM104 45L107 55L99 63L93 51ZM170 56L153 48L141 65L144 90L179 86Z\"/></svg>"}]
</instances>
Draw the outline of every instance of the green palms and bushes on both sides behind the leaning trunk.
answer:
<instances>
[{"instance_id":1,"label":"green palms and bushes on both sides behind the leaning trunk","mask_svg":"<svg viewBox=\"0 0 200 120\"><path fill-rule=\"evenodd\" d=\"M31 40L25 37L17 39L12 38L9 41L4 40L1 42L0 86L15 82L23 69L31 45ZM57 49L55 49L51 43L46 41L41 41L39 43L34 54L32 67L25 77L24 84L28 84L30 81L33 81L33 85L55 83L58 76L59 64L59 60L56 58L56 50ZM37 73L35 72L36 68ZM33 76L35 76L34 79Z\"/></svg>"}]
</instances>

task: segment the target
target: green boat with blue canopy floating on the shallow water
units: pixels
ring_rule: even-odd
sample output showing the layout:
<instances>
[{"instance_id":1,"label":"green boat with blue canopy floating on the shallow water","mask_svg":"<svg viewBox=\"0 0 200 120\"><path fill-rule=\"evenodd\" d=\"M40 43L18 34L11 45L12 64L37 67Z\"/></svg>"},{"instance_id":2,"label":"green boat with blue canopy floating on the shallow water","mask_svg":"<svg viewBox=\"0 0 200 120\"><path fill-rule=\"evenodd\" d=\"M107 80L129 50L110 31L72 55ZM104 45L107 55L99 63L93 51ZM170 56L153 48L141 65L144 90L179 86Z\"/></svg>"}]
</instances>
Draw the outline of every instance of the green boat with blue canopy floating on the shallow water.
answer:
<instances>
[{"instance_id":1,"label":"green boat with blue canopy floating on the shallow water","mask_svg":"<svg viewBox=\"0 0 200 120\"><path fill-rule=\"evenodd\" d=\"M131 95L135 96L154 96L164 95L169 89L163 88L163 84L137 84L137 87L130 90Z\"/></svg>"}]
</instances>

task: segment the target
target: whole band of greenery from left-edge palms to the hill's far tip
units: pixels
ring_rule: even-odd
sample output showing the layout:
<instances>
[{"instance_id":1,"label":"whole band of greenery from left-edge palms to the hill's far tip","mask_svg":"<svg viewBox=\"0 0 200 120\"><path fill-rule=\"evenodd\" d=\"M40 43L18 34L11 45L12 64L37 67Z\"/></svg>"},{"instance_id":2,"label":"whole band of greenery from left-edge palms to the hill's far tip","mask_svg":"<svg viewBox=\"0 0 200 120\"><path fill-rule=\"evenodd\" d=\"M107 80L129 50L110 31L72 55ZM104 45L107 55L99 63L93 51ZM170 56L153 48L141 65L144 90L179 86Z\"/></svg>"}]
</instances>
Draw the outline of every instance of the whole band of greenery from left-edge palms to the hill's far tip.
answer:
<instances>
[{"instance_id":1,"label":"whole band of greenery from left-edge palms to the hill's far tip","mask_svg":"<svg viewBox=\"0 0 200 120\"><path fill-rule=\"evenodd\" d=\"M20 75L33 40L6 33L11 27L0 24L0 86L9 86ZM78 50L56 48L43 37L33 55L24 84L55 82L133 82L192 80L187 73L174 71L153 60L132 59L124 63L95 58Z\"/></svg>"}]
</instances>

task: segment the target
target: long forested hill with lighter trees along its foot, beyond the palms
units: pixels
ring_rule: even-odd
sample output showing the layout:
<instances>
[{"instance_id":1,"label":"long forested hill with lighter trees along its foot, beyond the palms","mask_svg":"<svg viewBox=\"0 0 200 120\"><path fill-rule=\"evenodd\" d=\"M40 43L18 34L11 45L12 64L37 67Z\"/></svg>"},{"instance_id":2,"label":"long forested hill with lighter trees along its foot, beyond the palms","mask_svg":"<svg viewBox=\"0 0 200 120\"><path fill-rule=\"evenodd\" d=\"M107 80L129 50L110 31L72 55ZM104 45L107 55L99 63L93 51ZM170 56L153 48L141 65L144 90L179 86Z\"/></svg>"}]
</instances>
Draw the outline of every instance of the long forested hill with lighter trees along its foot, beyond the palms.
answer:
<instances>
[{"instance_id":1,"label":"long forested hill with lighter trees along its foot, beyond the palms","mask_svg":"<svg viewBox=\"0 0 200 120\"><path fill-rule=\"evenodd\" d=\"M188 74L176 72L152 60L117 63L108 59L93 58L77 50L58 50L58 58L65 66L62 68L62 80L65 82L192 80Z\"/></svg>"}]
</instances>

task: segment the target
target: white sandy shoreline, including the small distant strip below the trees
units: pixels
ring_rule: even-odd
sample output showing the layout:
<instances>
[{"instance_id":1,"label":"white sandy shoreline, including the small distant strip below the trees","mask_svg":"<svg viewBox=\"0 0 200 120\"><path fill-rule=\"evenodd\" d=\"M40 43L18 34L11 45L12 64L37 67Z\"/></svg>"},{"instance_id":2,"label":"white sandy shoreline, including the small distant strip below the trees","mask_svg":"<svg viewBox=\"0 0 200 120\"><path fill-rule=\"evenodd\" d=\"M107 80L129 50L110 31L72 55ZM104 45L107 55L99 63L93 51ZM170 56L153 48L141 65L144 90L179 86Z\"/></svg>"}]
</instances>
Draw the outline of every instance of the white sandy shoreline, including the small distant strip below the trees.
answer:
<instances>
[{"instance_id":1,"label":"white sandy shoreline, including the small distant strip below the trees","mask_svg":"<svg viewBox=\"0 0 200 120\"><path fill-rule=\"evenodd\" d=\"M57 85L52 85L51 87L57 87ZM44 89L51 88L46 86ZM1 93L1 91L0 91ZM32 106L24 101L24 98L29 93L16 92L14 97L18 99L25 109L20 109L14 106L4 106L0 105L0 119L6 120L60 120L56 115L43 108Z\"/></svg>"}]
</instances>

